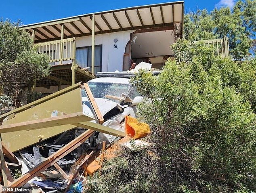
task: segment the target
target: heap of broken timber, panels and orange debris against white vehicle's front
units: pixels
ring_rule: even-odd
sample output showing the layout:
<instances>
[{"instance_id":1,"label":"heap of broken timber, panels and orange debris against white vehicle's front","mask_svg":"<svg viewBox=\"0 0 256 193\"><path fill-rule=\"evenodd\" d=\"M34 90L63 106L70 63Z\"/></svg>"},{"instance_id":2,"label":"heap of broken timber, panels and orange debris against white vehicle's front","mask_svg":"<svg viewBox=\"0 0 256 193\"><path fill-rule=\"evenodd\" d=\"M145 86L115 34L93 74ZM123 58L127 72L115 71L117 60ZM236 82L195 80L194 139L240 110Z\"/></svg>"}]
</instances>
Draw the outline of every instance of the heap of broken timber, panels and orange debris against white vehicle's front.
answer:
<instances>
[{"instance_id":1,"label":"heap of broken timber, panels and orange debris against white vehicle's front","mask_svg":"<svg viewBox=\"0 0 256 193\"><path fill-rule=\"evenodd\" d=\"M135 139L150 133L130 116L135 102L125 94L118 101L94 98L80 82L0 115L1 192L82 193L86 176L115 151L149 145Z\"/></svg>"}]
</instances>

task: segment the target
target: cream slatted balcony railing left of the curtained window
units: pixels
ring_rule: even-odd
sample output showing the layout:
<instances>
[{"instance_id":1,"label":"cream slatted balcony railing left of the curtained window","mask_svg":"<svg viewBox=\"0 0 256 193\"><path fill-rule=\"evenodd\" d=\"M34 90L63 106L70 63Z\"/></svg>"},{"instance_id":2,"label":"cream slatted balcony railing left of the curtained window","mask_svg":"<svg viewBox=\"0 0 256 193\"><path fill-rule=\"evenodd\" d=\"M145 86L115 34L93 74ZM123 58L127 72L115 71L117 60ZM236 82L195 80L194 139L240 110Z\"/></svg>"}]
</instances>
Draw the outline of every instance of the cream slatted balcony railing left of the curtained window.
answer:
<instances>
[{"instance_id":1,"label":"cream slatted balcony railing left of the curtained window","mask_svg":"<svg viewBox=\"0 0 256 193\"><path fill-rule=\"evenodd\" d=\"M50 62L68 61L76 58L76 38L67 38L34 44L38 53L46 54Z\"/></svg>"}]
</instances>

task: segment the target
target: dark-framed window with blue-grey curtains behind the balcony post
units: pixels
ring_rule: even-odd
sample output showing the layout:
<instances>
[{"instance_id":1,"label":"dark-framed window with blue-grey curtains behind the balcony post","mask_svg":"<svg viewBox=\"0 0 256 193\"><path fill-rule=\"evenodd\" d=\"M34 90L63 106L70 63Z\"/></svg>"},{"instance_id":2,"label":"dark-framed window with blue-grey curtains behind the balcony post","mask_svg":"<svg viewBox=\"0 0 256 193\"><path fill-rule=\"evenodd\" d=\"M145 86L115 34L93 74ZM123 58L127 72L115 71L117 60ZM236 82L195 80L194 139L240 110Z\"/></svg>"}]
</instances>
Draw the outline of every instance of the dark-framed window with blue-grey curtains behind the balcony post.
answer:
<instances>
[{"instance_id":1,"label":"dark-framed window with blue-grey curtains behind the balcony post","mask_svg":"<svg viewBox=\"0 0 256 193\"><path fill-rule=\"evenodd\" d=\"M76 48L76 63L82 68L92 67L92 46ZM94 72L100 72L101 66L102 45L97 45L94 47Z\"/></svg>"}]
</instances>

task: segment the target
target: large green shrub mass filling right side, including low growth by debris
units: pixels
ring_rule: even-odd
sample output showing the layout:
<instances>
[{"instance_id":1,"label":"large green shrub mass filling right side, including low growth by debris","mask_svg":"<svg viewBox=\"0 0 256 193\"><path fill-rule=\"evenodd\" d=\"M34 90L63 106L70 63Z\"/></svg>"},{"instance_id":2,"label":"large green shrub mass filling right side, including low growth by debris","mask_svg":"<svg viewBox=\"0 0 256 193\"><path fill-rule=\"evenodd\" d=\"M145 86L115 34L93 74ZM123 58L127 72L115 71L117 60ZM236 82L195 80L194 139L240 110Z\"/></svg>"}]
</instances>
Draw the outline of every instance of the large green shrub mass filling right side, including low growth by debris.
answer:
<instances>
[{"instance_id":1,"label":"large green shrub mass filling right side, including low growth by debris","mask_svg":"<svg viewBox=\"0 0 256 193\"><path fill-rule=\"evenodd\" d=\"M86 192L256 191L256 59L222 59L187 40L172 50L176 61L159 76L140 71L131 79L145 96L139 117L153 146L137 150L137 159L123 150L89 178Z\"/></svg>"}]
</instances>

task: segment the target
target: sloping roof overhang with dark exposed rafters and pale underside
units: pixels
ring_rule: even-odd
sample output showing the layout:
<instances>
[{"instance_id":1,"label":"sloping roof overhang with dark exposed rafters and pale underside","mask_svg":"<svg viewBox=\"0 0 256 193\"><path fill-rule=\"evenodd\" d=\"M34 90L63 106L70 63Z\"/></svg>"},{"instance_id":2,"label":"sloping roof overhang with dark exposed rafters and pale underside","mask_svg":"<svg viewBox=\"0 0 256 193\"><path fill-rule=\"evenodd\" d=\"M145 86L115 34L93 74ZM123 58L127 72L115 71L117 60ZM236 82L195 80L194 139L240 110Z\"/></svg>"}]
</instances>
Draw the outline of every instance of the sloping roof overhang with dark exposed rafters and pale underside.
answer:
<instances>
[{"instance_id":1,"label":"sloping roof overhang with dark exposed rafters and pale underside","mask_svg":"<svg viewBox=\"0 0 256 193\"><path fill-rule=\"evenodd\" d=\"M35 41L45 42L61 38L61 25L64 24L64 38L92 35L92 15L95 15L95 34L118 31L148 29L179 24L182 37L184 20L184 2L168 2L146 6L136 6L109 10L98 13L78 15L41 23L23 25L21 28L32 34L35 30Z\"/></svg>"}]
</instances>

